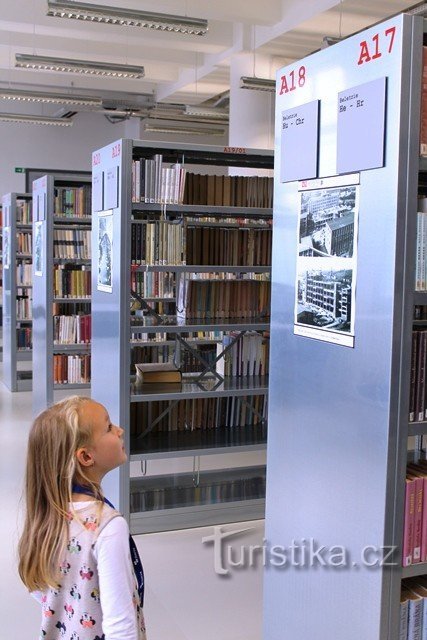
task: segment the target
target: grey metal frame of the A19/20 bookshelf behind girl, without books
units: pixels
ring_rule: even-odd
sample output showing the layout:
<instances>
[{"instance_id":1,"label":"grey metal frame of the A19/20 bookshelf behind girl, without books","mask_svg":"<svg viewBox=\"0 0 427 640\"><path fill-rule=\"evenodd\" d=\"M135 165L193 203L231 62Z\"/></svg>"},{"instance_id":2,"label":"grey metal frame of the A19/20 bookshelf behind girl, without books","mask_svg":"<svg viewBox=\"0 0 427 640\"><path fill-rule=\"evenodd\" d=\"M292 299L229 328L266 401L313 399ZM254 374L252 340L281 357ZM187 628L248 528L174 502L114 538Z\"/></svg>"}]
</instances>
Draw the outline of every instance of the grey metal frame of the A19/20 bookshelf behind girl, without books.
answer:
<instances>
[{"instance_id":1,"label":"grey metal frame of the A19/20 bookshelf behind girl, without books","mask_svg":"<svg viewBox=\"0 0 427 640\"><path fill-rule=\"evenodd\" d=\"M194 400L197 398L237 398L245 402L244 397L262 396L268 393L268 381L264 378L206 378L195 383L183 378L179 389L168 388L166 385L155 390L141 388L134 383L131 374L131 350L134 347L156 347L159 345L177 345L188 341L191 346L203 344L199 336L191 337L192 332L225 332L225 331L265 331L269 329L269 321L265 319L225 319L225 320L197 320L177 322L176 318L165 323L152 321L150 317L139 318L130 313L131 273L170 272L174 275L175 285L178 278L189 273L270 273L271 267L261 266L224 266L224 265L131 265L131 235L132 225L141 224L148 219L162 219L164 216L177 220L185 216L214 216L236 218L271 218L272 210L262 208L204 206L204 205L176 205L176 204L145 204L132 203L132 160L152 158L155 154L162 154L166 164L184 161L185 166L191 166L195 173L203 173L203 166L218 167L250 167L258 169L273 168L273 154L271 151L246 150L245 154L227 153L219 147L205 147L180 145L179 147L167 143L146 143L138 140L119 140L93 153L93 228L92 228L92 395L102 402L109 410L111 419L125 428L126 449L130 452L127 465L108 474L104 482L106 495L111 497L120 510L130 517L131 529L134 533L147 531L162 531L189 526L201 526L219 522L233 522L237 520L263 517L263 492L253 499L236 496L231 501L220 500L218 503L188 505L174 504L173 498L169 508L154 511L135 511L130 506L130 495L135 487L140 487L144 493L147 487L158 487L159 491L172 491L172 476L130 477L131 463L146 465L147 461L162 459L189 458L197 460L199 456L212 456L225 453L251 453L263 451L266 447L266 425L255 425L231 429L211 429L199 432L155 432L148 429L143 438L134 437L129 433L131 405L136 403L157 403L165 401L171 406L180 400ZM218 173L224 173L224 169ZM98 289L99 265L99 220L112 214L111 232L111 264L112 275L107 291ZM156 217L157 216L157 217ZM227 223L227 226L230 226ZM231 225L232 226L232 225ZM238 276L237 276L238 277ZM102 289L102 286L101 286ZM173 298L163 298L161 295L149 294L145 301L149 304L158 302L174 302ZM137 334L162 334L161 341L138 342L134 340ZM190 334L182 337L182 334ZM210 342L215 343L215 340ZM151 409L149 409L151 411ZM252 429L252 432L251 432ZM215 433L212 433L215 432ZM230 470L229 461L225 468L215 472L218 482L227 484L236 469ZM239 464L236 463L236 467ZM254 467L256 469L256 467ZM208 471L200 472L200 481L209 478ZM249 472L249 474L252 472ZM213 476L212 476L213 477ZM189 479L193 490L200 493L197 483L194 484L193 475L183 473L182 478ZM150 484L151 483L151 484ZM169 487L169 488L168 488ZM190 487L187 487L190 490ZM172 494L173 495L173 494Z\"/></svg>"}]
</instances>

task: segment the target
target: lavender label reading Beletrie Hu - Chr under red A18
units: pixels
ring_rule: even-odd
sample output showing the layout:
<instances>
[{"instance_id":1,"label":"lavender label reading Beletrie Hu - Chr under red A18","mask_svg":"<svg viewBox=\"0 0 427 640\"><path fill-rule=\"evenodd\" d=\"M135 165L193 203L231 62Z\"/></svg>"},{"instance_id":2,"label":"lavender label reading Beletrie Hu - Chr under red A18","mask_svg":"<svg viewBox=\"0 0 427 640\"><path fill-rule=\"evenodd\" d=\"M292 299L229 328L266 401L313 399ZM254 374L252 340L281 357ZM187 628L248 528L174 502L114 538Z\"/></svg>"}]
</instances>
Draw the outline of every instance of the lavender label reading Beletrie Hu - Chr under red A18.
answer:
<instances>
[{"instance_id":1,"label":"lavender label reading Beletrie Hu - Chr under red A18","mask_svg":"<svg viewBox=\"0 0 427 640\"><path fill-rule=\"evenodd\" d=\"M280 181L317 178L319 100L282 111Z\"/></svg>"}]
</instances>

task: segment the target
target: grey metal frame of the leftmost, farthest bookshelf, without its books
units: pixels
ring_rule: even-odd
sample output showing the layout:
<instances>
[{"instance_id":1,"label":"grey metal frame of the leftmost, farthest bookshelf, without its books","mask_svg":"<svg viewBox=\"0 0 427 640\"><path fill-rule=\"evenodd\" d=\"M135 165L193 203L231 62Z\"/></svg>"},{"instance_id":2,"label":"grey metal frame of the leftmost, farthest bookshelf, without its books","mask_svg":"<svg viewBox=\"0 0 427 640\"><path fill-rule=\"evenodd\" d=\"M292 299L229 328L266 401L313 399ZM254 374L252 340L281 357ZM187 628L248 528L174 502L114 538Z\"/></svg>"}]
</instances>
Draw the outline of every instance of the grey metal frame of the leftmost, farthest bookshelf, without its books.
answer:
<instances>
[{"instance_id":1,"label":"grey metal frame of the leftmost, farthest bookshelf, without its books","mask_svg":"<svg viewBox=\"0 0 427 640\"><path fill-rule=\"evenodd\" d=\"M32 226L19 220L19 203L26 202L31 206L31 194L8 193L3 196L3 234L8 241L5 249L7 256L3 261L3 382L10 391L31 391L32 370L21 369L18 363L31 362L32 349L18 345L18 331L31 329L31 316L22 319L18 314L17 304L23 297L30 299L31 280L24 284L18 282L17 269L20 265L31 267L32 254L19 252L17 234L28 234L31 242ZM18 296L19 291L19 296Z\"/></svg>"}]
</instances>

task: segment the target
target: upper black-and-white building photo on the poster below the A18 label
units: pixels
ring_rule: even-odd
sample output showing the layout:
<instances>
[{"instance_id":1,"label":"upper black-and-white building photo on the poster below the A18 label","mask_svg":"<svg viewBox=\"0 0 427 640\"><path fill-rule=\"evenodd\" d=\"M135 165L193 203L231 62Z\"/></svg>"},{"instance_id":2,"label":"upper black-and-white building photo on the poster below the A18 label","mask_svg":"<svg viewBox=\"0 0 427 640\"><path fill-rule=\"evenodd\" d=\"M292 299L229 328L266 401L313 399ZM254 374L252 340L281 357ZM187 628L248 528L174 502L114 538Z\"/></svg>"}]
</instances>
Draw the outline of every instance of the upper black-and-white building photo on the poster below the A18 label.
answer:
<instances>
[{"instance_id":1,"label":"upper black-and-white building photo on the poster below the A18 label","mask_svg":"<svg viewBox=\"0 0 427 640\"><path fill-rule=\"evenodd\" d=\"M357 196L357 185L301 192L300 256L353 257Z\"/></svg>"}]
</instances>

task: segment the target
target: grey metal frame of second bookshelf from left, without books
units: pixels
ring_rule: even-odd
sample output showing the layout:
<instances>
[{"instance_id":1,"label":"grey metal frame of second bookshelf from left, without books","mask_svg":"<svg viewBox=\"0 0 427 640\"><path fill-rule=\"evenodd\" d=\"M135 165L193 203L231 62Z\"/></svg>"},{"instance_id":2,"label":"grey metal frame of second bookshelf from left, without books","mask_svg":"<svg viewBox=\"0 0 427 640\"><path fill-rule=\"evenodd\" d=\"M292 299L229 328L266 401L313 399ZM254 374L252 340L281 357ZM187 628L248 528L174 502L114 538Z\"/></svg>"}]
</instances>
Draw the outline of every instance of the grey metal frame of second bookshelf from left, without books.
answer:
<instances>
[{"instance_id":1,"label":"grey metal frame of second bookshelf from left, without books","mask_svg":"<svg viewBox=\"0 0 427 640\"><path fill-rule=\"evenodd\" d=\"M55 209L55 189L60 187L80 187L90 185L90 174L70 172L69 174L46 175L33 182L33 366L37 375L33 381L33 410L37 414L54 401L55 390L88 389L88 384L55 384L54 355L87 354L87 344L59 345L53 337L53 304L66 304L69 313L77 304L88 305L90 298L55 298L54 297L54 265L55 264L87 264L90 260L70 258L54 258L55 229L87 229L91 228L89 216L58 215ZM62 212L64 213L64 212ZM90 213L87 212L87 213ZM38 245L36 243L39 243Z\"/></svg>"}]
</instances>

